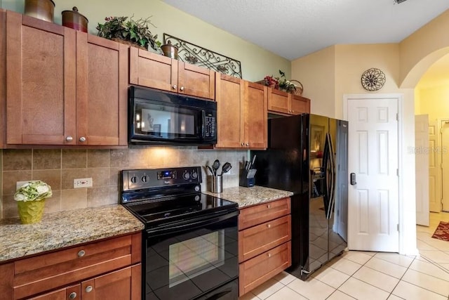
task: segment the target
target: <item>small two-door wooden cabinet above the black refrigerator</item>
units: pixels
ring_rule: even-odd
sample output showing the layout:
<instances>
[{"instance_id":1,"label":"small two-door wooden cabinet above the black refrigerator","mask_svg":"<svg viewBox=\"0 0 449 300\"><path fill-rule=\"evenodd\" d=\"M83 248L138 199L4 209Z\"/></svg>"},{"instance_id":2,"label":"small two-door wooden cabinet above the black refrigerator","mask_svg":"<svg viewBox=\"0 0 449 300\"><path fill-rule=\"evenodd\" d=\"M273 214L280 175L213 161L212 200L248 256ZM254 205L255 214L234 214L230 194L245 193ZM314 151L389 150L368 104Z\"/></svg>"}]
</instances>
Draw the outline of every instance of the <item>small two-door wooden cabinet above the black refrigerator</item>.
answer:
<instances>
[{"instance_id":1,"label":"small two-door wooden cabinet above the black refrigerator","mask_svg":"<svg viewBox=\"0 0 449 300\"><path fill-rule=\"evenodd\" d=\"M286 115L310 113L310 99L269 88L268 111Z\"/></svg>"}]
</instances>

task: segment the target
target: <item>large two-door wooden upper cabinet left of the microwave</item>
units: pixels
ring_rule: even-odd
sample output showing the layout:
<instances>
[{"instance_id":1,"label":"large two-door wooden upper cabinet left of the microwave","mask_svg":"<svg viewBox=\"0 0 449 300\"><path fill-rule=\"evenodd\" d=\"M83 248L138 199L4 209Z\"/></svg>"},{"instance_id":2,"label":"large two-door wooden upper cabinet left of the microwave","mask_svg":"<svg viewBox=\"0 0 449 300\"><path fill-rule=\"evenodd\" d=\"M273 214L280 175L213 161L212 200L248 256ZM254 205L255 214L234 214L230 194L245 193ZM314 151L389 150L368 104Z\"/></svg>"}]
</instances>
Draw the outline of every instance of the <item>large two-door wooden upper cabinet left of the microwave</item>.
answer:
<instances>
[{"instance_id":1,"label":"large two-door wooden upper cabinet left of the microwave","mask_svg":"<svg viewBox=\"0 0 449 300\"><path fill-rule=\"evenodd\" d=\"M12 11L6 41L7 145L127 145L127 46Z\"/></svg>"}]
</instances>

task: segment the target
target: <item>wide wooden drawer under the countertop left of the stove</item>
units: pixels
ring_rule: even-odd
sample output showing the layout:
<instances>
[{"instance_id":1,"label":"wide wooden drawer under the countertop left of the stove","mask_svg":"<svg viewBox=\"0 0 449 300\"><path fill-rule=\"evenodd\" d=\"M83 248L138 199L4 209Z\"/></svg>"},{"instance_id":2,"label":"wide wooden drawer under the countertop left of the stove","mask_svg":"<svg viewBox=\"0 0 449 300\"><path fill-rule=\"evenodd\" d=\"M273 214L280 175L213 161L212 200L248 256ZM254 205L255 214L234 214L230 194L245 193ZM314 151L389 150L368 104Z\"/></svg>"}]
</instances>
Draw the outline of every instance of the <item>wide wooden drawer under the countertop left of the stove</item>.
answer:
<instances>
[{"instance_id":1,"label":"wide wooden drawer under the countertop left of the stove","mask_svg":"<svg viewBox=\"0 0 449 300\"><path fill-rule=\"evenodd\" d=\"M141 247L139 237L126 235L15 261L14 299L130 266L140 254L135 249Z\"/></svg>"}]
</instances>

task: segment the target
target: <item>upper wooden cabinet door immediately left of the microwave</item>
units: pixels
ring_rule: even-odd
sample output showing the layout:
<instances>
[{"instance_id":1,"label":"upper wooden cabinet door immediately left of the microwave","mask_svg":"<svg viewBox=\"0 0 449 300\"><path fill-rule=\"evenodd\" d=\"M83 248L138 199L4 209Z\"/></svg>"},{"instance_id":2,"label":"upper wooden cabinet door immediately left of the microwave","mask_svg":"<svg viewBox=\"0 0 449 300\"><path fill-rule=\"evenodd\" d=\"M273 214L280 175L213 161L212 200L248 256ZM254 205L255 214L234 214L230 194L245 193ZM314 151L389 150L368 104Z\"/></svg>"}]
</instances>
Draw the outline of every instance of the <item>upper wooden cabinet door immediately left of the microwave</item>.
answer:
<instances>
[{"instance_id":1,"label":"upper wooden cabinet door immediately left of the microwave","mask_svg":"<svg viewBox=\"0 0 449 300\"><path fill-rule=\"evenodd\" d=\"M76 144L128 145L128 47L76 32Z\"/></svg>"}]
</instances>

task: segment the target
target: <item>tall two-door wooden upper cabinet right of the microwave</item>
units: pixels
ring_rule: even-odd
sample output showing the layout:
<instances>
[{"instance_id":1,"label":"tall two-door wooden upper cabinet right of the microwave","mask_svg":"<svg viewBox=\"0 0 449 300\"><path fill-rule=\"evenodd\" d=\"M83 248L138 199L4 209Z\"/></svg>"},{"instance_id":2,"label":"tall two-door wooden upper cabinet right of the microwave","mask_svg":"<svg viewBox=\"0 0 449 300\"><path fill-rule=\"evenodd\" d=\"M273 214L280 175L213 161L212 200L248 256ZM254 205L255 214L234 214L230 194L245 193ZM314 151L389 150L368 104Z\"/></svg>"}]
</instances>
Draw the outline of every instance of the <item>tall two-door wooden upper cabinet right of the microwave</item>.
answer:
<instances>
[{"instance_id":1,"label":"tall two-door wooden upper cabinet right of the microwave","mask_svg":"<svg viewBox=\"0 0 449 300\"><path fill-rule=\"evenodd\" d=\"M215 148L267 148L267 88L217 73Z\"/></svg>"}]
</instances>

